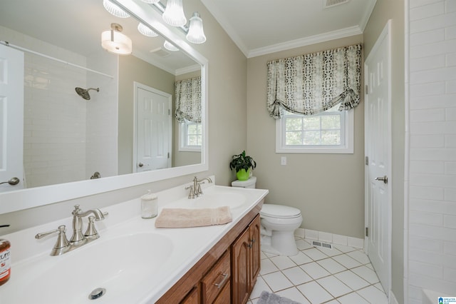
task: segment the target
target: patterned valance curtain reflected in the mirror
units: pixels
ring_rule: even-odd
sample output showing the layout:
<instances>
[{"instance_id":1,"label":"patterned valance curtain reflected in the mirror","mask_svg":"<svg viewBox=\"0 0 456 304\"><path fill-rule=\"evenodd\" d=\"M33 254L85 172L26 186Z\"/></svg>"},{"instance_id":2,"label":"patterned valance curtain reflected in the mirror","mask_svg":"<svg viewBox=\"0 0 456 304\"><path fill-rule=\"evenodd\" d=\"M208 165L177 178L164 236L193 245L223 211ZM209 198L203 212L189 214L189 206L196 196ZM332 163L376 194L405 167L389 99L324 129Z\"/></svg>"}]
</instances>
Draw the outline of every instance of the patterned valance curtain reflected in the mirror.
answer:
<instances>
[{"instance_id":1,"label":"patterned valance curtain reflected in the mirror","mask_svg":"<svg viewBox=\"0 0 456 304\"><path fill-rule=\"evenodd\" d=\"M175 82L175 117L180 123L201 122L201 76Z\"/></svg>"}]
</instances>

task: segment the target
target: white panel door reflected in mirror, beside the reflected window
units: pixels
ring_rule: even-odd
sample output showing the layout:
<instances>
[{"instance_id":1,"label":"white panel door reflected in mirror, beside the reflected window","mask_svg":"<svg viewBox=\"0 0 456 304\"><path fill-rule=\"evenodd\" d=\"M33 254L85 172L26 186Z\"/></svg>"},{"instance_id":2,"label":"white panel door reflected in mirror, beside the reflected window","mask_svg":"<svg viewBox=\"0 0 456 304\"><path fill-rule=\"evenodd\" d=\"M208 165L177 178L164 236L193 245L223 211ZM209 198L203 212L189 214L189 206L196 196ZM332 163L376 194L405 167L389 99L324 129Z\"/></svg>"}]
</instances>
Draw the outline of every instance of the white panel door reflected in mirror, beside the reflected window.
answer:
<instances>
[{"instance_id":1,"label":"white panel door reflected in mirror, beside the reflected window","mask_svg":"<svg viewBox=\"0 0 456 304\"><path fill-rule=\"evenodd\" d=\"M171 166L171 95L135 83L134 171L150 171Z\"/></svg>"}]
</instances>

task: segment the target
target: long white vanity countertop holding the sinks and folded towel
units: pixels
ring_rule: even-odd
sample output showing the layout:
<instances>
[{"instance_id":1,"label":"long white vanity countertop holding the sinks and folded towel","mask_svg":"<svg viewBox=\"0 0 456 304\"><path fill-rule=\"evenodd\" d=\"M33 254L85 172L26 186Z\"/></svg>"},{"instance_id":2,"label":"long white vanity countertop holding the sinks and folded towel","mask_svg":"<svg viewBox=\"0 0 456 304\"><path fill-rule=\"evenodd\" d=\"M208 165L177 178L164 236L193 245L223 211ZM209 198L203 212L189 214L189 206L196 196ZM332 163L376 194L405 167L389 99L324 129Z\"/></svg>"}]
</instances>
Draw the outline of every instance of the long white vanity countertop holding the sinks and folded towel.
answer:
<instances>
[{"instance_id":1,"label":"long white vanity countertop holding the sinks and folded towel","mask_svg":"<svg viewBox=\"0 0 456 304\"><path fill-rule=\"evenodd\" d=\"M214 184L203 185L205 196L223 195L227 191L231 193L241 193L245 202L236 208L232 208L231 223L219 226L206 226L195 228L155 228L155 218L142 219L140 217L140 198L124 203L119 203L108 208L103 208L109 216L104 221L95 222L100 234L98 240L89 243L81 248L73 250L61 256L50 256L49 253L56 242L56 235L46 237L45 239L36 240L34 235L47 230L56 229L60 225L66 225L67 237L71 237L71 217L47 223L42 226L28 228L16 233L4 235L11 242L11 278L0 286L0 303L155 303L168 289L179 280L182 275L187 273L197 261L207 253L233 226L235 226L249 211L251 211L269 191L261 189L232 188L224 186L213 186ZM189 203L192 205L195 201L186 198L187 191L184 190L186 185L161 191L159 197L159 214L165 206L182 206L176 204L177 201ZM204 196L203 195L203 196ZM187 201L185 201L187 200ZM185 208L185 207L181 207ZM90 209L90 206L81 206L83 211ZM71 211L68 211L71 214ZM86 229L84 221L83 230ZM129 286L115 288L116 292L109 290L103 297L97 300L88 300L90 290L83 290L81 295L72 293L72 284L66 283L66 278L60 278L58 286L52 284L41 285L41 293L33 295L33 290L28 293L27 286L36 285L36 282L46 280L46 269L55 267L56 263L65 263L65 259L71 258L71 255L77 255L78 250L85 250L89 246L96 246L98 242L119 238L123 235L138 235L138 233L154 233L163 235L171 240L172 248L169 257L158 265L151 273L146 273L138 280L129 280ZM118 244L126 246L127 244ZM109 252L105 253L109 254ZM135 259L135 253L126 256L127 259ZM150 257L153 259L153 256ZM71 265L75 268L84 268L84 261L77 265ZM44 273L41 273L41 270ZM70 268L71 269L71 268ZM90 275L90 269L84 269L87 275ZM71 272L71 271L70 271ZM68 273L72 275L72 273ZM123 275L120 273L119 275ZM68 279L69 280L69 279ZM70 280L71 282L71 280ZM68 286L70 285L70 286ZM102 286L93 286L93 288ZM54 298L53 290L68 289L68 298ZM73 289L72 289L73 288ZM33 289L33 288L29 288ZM67 293L63 293L67 294Z\"/></svg>"}]
</instances>

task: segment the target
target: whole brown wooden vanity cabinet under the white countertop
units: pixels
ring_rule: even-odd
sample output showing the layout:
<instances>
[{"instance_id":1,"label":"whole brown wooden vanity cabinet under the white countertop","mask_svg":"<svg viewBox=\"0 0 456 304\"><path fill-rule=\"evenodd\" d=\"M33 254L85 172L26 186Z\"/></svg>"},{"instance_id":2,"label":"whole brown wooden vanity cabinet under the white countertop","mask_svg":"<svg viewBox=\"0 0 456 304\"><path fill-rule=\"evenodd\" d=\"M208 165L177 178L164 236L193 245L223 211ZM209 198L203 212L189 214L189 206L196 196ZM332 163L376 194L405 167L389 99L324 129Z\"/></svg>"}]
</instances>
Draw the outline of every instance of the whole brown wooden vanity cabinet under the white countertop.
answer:
<instances>
[{"instance_id":1,"label":"whole brown wooden vanity cabinet under the white countertop","mask_svg":"<svg viewBox=\"0 0 456 304\"><path fill-rule=\"evenodd\" d=\"M156 303L246 303L260 268L262 205L261 201L236 223Z\"/></svg>"}]
</instances>

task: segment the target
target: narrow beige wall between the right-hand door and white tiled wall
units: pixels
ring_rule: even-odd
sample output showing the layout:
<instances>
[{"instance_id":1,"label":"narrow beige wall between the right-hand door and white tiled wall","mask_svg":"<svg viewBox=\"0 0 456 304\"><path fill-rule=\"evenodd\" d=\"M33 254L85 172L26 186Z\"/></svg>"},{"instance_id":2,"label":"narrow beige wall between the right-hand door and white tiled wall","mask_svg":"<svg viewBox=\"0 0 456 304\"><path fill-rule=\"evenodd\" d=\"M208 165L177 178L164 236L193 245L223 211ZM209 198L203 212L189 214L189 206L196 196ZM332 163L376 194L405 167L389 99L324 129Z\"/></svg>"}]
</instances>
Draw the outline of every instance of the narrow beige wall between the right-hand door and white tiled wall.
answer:
<instances>
[{"instance_id":1,"label":"narrow beige wall between the right-hand door and white tiled wall","mask_svg":"<svg viewBox=\"0 0 456 304\"><path fill-rule=\"evenodd\" d=\"M404 97L404 1L377 0L371 19L364 31L364 56L367 58L388 19L392 20L391 123L393 135L393 235L392 235L392 290L403 303L403 228L404 228L404 153L405 153L405 97Z\"/></svg>"}]
</instances>

